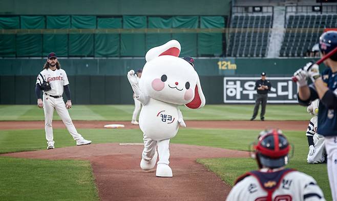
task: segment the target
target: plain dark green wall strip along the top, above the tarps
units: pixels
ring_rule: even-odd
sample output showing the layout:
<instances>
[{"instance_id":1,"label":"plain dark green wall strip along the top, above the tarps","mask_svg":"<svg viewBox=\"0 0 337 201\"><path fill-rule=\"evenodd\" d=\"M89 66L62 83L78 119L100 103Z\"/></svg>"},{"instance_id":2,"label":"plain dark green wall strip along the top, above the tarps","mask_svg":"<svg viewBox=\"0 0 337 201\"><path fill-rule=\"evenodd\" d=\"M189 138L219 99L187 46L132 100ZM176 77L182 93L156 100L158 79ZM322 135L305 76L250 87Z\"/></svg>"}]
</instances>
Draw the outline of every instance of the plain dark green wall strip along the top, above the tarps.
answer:
<instances>
[{"instance_id":1,"label":"plain dark green wall strip along the top, above the tarps","mask_svg":"<svg viewBox=\"0 0 337 201\"><path fill-rule=\"evenodd\" d=\"M43 15L229 15L230 0L0 0L0 14Z\"/></svg>"}]
</instances>

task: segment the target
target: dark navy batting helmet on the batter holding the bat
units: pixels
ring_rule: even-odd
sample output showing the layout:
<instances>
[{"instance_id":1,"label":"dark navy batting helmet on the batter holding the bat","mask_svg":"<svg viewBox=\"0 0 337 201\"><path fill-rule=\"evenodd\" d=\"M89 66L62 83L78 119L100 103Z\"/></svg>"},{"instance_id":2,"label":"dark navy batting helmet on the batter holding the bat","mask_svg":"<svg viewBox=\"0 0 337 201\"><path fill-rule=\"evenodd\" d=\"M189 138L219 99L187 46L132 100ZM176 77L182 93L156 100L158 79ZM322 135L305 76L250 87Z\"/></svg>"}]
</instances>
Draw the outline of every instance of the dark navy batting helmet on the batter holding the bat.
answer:
<instances>
[{"instance_id":1,"label":"dark navy batting helmet on the batter holding the bat","mask_svg":"<svg viewBox=\"0 0 337 201\"><path fill-rule=\"evenodd\" d=\"M337 31L327 31L320 37L320 51L324 54L329 53L337 47ZM337 53L330 57L333 61L337 61Z\"/></svg>"}]
</instances>

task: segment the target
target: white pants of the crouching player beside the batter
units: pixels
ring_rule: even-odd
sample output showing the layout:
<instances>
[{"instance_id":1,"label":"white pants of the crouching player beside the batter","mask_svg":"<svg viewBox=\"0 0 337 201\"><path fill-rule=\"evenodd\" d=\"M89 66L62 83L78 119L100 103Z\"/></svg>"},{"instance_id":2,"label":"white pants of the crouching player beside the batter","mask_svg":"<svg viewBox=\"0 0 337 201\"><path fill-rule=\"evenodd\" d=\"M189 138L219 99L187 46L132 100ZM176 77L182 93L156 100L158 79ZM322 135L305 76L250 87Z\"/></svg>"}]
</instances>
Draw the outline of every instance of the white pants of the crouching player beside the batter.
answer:
<instances>
[{"instance_id":1,"label":"white pants of the crouching player beside the batter","mask_svg":"<svg viewBox=\"0 0 337 201\"><path fill-rule=\"evenodd\" d=\"M323 163L325 160L325 144L324 137L322 135L314 134L313 135L313 146L315 147L315 153L310 156L308 154L307 161L309 164L313 163Z\"/></svg>"}]
</instances>

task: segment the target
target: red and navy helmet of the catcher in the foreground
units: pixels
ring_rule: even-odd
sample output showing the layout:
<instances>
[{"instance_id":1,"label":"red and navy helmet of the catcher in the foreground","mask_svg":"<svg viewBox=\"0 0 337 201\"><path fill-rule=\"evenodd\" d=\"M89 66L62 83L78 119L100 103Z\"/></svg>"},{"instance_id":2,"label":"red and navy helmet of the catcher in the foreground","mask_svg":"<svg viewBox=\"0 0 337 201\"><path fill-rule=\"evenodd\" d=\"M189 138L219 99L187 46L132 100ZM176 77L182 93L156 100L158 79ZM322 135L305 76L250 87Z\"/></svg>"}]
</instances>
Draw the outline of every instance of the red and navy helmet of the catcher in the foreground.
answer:
<instances>
[{"instance_id":1,"label":"red and navy helmet of the catcher in the foreground","mask_svg":"<svg viewBox=\"0 0 337 201\"><path fill-rule=\"evenodd\" d=\"M288 163L290 146L280 130L272 129L260 133L254 145L254 156L259 168L280 168Z\"/></svg>"}]
</instances>

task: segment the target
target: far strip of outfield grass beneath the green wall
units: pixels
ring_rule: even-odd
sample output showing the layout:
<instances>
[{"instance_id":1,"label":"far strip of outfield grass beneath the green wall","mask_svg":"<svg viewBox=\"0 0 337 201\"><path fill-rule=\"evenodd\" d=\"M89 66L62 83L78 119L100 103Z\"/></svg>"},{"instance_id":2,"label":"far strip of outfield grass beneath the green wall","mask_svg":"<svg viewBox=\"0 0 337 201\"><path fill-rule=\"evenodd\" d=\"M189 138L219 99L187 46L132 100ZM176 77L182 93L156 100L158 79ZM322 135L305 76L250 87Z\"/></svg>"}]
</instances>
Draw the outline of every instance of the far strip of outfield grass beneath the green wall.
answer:
<instances>
[{"instance_id":1,"label":"far strip of outfield grass beneath the green wall","mask_svg":"<svg viewBox=\"0 0 337 201\"><path fill-rule=\"evenodd\" d=\"M73 120L131 120L133 105L74 105ZM254 105L206 105L192 110L180 107L185 120L248 120ZM0 105L0 120L44 120L44 111L35 105ZM258 116L259 117L259 116ZM267 105L266 120L307 120L310 115L298 105ZM59 120L54 112L53 119Z\"/></svg>"}]
</instances>

